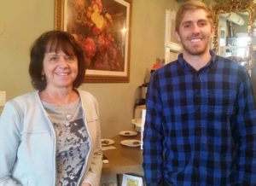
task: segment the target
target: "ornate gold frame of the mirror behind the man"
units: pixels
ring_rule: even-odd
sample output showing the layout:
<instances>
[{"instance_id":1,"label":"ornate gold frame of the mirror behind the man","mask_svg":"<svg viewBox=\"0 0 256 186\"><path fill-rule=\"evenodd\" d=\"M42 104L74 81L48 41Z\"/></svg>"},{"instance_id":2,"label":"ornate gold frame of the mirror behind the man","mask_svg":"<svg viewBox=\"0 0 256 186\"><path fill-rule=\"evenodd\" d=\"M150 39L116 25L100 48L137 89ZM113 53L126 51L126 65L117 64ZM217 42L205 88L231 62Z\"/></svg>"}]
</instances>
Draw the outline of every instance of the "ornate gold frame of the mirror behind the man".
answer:
<instances>
[{"instance_id":1,"label":"ornate gold frame of the mirror behind the man","mask_svg":"<svg viewBox=\"0 0 256 186\"><path fill-rule=\"evenodd\" d=\"M218 36L218 20L219 15L231 12L247 12L248 15L248 37L253 38L254 29L254 5L253 0L248 0L247 3L242 3L242 0L228 0L224 4L216 4L213 8L213 26L215 27L215 32L212 40L213 49L217 52L219 47L219 36ZM251 74L253 68L253 44L249 45L249 55L247 59L247 70Z\"/></svg>"}]
</instances>

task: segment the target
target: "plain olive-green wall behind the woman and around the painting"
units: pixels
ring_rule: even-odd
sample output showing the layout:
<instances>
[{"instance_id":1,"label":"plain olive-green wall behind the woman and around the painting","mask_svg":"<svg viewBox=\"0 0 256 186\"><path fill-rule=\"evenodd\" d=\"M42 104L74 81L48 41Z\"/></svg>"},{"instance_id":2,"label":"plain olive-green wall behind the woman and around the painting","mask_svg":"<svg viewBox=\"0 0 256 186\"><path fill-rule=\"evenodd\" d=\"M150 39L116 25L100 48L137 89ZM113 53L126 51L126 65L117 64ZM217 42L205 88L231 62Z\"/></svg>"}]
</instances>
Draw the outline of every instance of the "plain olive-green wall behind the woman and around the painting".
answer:
<instances>
[{"instance_id":1,"label":"plain olive-green wall behind the woman and around the painting","mask_svg":"<svg viewBox=\"0 0 256 186\"><path fill-rule=\"evenodd\" d=\"M155 58L164 58L165 11L177 6L175 0L133 0L130 83L87 83L80 87L99 102L102 137L132 128L138 86ZM54 0L0 1L0 91L7 91L8 100L32 90L27 70L29 49L42 32L54 29L54 20Z\"/></svg>"}]
</instances>

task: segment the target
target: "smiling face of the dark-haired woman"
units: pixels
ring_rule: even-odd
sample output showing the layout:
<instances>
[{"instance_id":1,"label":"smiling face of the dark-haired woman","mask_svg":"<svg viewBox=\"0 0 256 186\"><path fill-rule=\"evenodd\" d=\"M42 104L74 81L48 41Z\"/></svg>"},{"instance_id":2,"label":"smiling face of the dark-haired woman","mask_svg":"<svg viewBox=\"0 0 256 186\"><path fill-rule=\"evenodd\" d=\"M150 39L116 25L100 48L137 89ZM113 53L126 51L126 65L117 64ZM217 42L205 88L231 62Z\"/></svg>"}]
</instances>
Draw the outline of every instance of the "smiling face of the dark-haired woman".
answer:
<instances>
[{"instance_id":1,"label":"smiling face of the dark-haired woman","mask_svg":"<svg viewBox=\"0 0 256 186\"><path fill-rule=\"evenodd\" d=\"M44 54L42 75L46 78L46 88L73 88L78 71L75 55L67 55L61 49Z\"/></svg>"}]
</instances>

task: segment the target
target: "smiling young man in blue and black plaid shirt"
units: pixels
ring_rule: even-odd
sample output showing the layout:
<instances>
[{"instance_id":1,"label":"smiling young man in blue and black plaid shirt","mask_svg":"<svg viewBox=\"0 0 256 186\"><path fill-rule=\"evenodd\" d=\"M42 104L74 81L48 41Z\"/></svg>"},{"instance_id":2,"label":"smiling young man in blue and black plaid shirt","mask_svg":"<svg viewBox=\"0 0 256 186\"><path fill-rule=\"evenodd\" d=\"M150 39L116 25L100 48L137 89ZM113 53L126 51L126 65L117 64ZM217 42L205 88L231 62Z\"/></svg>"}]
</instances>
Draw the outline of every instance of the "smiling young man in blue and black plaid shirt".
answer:
<instances>
[{"instance_id":1,"label":"smiling young man in blue and black plaid shirt","mask_svg":"<svg viewBox=\"0 0 256 186\"><path fill-rule=\"evenodd\" d=\"M177 11L183 53L152 74L143 139L147 186L256 185L256 110L247 70L210 50L212 12Z\"/></svg>"}]
</instances>

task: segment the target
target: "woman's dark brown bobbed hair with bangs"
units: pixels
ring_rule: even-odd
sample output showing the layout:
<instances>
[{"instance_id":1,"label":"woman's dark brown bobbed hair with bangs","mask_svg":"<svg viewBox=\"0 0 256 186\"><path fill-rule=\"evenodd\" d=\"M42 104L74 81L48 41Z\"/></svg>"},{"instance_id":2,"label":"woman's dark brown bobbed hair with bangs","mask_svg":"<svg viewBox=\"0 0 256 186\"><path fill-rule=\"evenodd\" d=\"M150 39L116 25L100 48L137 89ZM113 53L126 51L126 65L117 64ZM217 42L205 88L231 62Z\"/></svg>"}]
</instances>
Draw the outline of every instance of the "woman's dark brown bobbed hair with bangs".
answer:
<instances>
[{"instance_id":1,"label":"woman's dark brown bobbed hair with bangs","mask_svg":"<svg viewBox=\"0 0 256 186\"><path fill-rule=\"evenodd\" d=\"M75 55L78 58L79 72L73 82L73 88L78 88L83 83L85 73L83 50L70 33L49 31L44 32L35 40L30 51L29 74L32 78L32 86L35 89L44 90L47 85L46 79L42 77L44 54L59 50L62 50L67 55Z\"/></svg>"}]
</instances>

